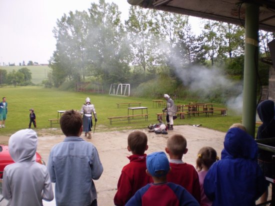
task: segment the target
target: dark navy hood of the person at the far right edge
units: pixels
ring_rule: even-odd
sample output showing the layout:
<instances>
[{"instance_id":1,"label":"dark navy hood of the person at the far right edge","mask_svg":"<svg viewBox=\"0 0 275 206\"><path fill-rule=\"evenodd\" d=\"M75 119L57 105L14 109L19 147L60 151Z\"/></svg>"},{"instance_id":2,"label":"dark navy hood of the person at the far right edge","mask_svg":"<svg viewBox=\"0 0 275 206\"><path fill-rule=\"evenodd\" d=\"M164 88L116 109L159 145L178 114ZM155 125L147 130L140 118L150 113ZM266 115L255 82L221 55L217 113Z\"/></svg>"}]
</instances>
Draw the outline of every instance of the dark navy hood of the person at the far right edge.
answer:
<instances>
[{"instance_id":1,"label":"dark navy hood of the person at the far right edge","mask_svg":"<svg viewBox=\"0 0 275 206\"><path fill-rule=\"evenodd\" d=\"M268 124L274 120L275 107L274 101L264 100L257 106L257 113L263 124Z\"/></svg>"}]
</instances>

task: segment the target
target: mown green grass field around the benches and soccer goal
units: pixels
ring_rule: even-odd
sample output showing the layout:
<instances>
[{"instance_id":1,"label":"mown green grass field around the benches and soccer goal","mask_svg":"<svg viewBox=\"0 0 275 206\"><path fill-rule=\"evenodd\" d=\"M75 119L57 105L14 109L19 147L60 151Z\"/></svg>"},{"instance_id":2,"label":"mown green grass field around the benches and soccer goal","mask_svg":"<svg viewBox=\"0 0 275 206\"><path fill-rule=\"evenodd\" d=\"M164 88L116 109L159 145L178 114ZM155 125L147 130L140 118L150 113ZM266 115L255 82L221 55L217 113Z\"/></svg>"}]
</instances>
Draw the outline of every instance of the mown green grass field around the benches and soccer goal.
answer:
<instances>
[{"instance_id":1,"label":"mown green grass field around the benches and soccer goal","mask_svg":"<svg viewBox=\"0 0 275 206\"><path fill-rule=\"evenodd\" d=\"M99 93L84 93L84 92L67 92L57 89L46 89L42 87L2 87L0 88L1 97L5 96L8 103L8 113L6 119L6 127L0 129L0 134L11 134L16 130L27 128L29 122L29 108L33 108L36 114L37 133L39 129L49 129L48 119L57 118L57 110L76 109L80 110L85 98L88 96L94 104L97 113L96 131L103 130L122 130L134 128L147 128L150 123L156 123L156 114L162 113L162 108L153 108L152 99L137 98L126 96L113 96ZM165 100L163 99L165 102ZM121 102L141 102L141 106L148 107L148 121L144 119L136 119L127 123L127 121L117 121L109 125L109 116L127 115L127 107L117 108L116 103ZM175 100L176 104L188 103L179 99ZM224 105L214 105L216 107L224 107ZM205 117L191 117L185 119L175 119L174 125L179 124L202 124L203 127L226 131L228 127L235 122L240 122L241 116L230 115L230 110L227 116L215 115ZM58 124L54 124L58 127ZM56 131L56 129L55 129ZM60 132L60 131L59 131Z\"/></svg>"}]
</instances>

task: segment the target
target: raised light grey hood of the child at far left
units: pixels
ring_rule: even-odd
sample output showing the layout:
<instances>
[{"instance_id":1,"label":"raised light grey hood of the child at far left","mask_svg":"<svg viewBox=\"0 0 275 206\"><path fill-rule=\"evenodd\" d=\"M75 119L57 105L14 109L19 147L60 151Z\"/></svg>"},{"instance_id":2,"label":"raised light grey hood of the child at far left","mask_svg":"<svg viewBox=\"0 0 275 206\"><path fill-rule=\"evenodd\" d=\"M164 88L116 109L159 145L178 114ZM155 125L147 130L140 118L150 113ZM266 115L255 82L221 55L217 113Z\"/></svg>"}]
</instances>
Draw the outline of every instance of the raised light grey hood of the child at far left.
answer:
<instances>
[{"instance_id":1,"label":"raised light grey hood of the child at far left","mask_svg":"<svg viewBox=\"0 0 275 206\"><path fill-rule=\"evenodd\" d=\"M8 150L15 162L35 161L37 135L32 129L22 129L12 134L8 140Z\"/></svg>"}]
</instances>

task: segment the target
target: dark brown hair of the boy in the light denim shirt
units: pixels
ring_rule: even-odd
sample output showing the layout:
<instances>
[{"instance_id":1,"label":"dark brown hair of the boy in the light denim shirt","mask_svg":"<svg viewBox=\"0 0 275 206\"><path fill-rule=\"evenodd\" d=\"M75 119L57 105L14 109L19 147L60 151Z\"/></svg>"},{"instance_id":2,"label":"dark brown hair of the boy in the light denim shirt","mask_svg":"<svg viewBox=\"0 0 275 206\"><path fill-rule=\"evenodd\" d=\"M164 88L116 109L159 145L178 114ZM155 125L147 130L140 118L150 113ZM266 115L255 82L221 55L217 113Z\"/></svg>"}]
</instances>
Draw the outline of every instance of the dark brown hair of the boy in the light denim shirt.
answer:
<instances>
[{"instance_id":1,"label":"dark brown hair of the boy in the light denim shirt","mask_svg":"<svg viewBox=\"0 0 275 206\"><path fill-rule=\"evenodd\" d=\"M65 111L60 117L60 127L66 136L78 136L81 126L81 114L73 109Z\"/></svg>"}]
</instances>

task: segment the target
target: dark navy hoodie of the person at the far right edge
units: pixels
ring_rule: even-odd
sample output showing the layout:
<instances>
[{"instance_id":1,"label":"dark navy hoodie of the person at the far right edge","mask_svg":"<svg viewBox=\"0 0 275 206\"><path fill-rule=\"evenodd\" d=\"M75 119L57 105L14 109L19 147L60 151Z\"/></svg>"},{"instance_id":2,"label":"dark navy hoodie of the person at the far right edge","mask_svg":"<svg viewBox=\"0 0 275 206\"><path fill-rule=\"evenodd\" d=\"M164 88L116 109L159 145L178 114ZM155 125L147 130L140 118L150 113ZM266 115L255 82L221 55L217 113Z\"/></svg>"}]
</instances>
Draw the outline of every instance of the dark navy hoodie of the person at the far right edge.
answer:
<instances>
[{"instance_id":1,"label":"dark navy hoodie of the person at the far right edge","mask_svg":"<svg viewBox=\"0 0 275 206\"><path fill-rule=\"evenodd\" d=\"M275 107L274 101L264 100L257 106L257 112L262 125L258 127L257 139L275 137ZM269 144L274 146L274 144ZM263 161L271 161L272 152L260 150L258 158Z\"/></svg>"}]
</instances>

